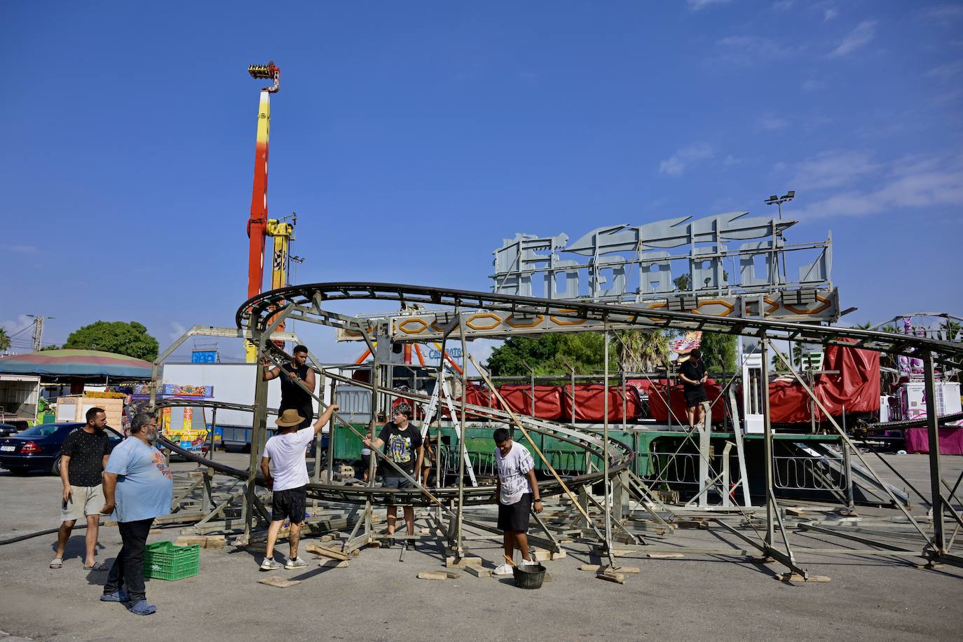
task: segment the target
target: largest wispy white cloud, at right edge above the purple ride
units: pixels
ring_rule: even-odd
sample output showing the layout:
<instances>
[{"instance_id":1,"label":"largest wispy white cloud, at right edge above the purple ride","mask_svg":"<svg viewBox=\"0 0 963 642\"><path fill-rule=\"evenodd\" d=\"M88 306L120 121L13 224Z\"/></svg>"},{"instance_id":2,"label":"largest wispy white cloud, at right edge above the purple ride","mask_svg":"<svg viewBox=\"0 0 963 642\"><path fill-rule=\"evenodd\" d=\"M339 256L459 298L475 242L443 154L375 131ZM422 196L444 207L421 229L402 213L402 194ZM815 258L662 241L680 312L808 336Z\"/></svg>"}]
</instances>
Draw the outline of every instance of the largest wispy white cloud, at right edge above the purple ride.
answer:
<instances>
[{"instance_id":1,"label":"largest wispy white cloud, at right edge above the purple ride","mask_svg":"<svg viewBox=\"0 0 963 642\"><path fill-rule=\"evenodd\" d=\"M876 166L870 188L849 189L807 206L799 218L866 217L902 209L963 205L963 157L904 158Z\"/></svg>"}]
</instances>

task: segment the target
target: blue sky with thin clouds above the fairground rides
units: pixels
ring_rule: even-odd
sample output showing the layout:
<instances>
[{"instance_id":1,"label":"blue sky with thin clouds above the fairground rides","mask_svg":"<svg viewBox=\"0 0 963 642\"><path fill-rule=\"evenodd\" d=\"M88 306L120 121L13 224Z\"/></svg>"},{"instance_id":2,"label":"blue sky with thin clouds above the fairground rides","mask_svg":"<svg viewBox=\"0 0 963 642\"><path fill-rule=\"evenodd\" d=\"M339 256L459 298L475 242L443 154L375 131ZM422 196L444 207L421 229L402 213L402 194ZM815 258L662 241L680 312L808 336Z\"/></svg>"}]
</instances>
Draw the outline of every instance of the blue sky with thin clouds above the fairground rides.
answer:
<instances>
[{"instance_id":1,"label":"blue sky with thin clouds above the fairground rides","mask_svg":"<svg viewBox=\"0 0 963 642\"><path fill-rule=\"evenodd\" d=\"M6 3L0 323L232 325L258 82L299 282L487 290L515 232L831 230L846 321L960 315L963 4ZM386 309L387 306L385 306ZM299 329L299 331L301 331ZM348 359L356 346L316 351ZM18 335L23 338L29 333ZM222 344L228 354L240 347ZM320 349L319 349L320 348Z\"/></svg>"}]
</instances>

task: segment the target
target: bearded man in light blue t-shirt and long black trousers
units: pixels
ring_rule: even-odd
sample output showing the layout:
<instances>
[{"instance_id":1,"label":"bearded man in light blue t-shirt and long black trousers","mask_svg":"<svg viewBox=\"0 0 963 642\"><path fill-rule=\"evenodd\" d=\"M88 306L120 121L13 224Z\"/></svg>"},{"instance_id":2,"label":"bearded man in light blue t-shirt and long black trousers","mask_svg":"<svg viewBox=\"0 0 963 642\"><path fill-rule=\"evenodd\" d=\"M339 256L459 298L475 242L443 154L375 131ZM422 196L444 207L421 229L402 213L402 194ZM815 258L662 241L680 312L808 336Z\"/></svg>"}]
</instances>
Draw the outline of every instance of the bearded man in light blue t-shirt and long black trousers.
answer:
<instances>
[{"instance_id":1,"label":"bearded man in light blue t-shirt and long black trousers","mask_svg":"<svg viewBox=\"0 0 963 642\"><path fill-rule=\"evenodd\" d=\"M123 546L100 600L129 602L131 612L138 615L157 610L144 593L143 550L154 518L169 514L174 489L167 460L154 448L156 441L157 420L147 413L134 415L130 437L114 449L104 470L105 503L100 512L113 513Z\"/></svg>"}]
</instances>

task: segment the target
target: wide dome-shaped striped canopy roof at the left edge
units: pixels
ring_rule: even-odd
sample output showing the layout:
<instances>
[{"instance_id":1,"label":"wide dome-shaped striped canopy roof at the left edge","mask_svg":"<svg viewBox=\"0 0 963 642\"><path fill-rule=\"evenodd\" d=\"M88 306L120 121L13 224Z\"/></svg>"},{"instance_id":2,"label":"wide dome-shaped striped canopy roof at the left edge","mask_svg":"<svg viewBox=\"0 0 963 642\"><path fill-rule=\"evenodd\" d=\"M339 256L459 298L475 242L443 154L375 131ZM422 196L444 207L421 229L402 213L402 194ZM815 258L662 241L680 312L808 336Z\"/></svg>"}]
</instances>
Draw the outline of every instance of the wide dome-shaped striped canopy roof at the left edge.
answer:
<instances>
[{"instance_id":1,"label":"wide dome-shaped striped canopy roof at the left edge","mask_svg":"<svg viewBox=\"0 0 963 642\"><path fill-rule=\"evenodd\" d=\"M69 376L117 376L149 379L152 364L100 350L43 350L0 357L0 372Z\"/></svg>"}]
</instances>

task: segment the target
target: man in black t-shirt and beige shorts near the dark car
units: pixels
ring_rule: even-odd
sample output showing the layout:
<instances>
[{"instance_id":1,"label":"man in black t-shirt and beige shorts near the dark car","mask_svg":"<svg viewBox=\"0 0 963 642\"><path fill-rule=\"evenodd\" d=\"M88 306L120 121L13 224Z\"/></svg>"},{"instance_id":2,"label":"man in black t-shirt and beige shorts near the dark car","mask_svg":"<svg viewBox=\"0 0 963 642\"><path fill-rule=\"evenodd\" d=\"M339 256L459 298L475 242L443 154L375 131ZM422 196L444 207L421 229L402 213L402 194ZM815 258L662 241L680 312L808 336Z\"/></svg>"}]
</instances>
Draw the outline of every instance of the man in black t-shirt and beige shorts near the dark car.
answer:
<instances>
[{"instance_id":1,"label":"man in black t-shirt and beige shorts near the dark car","mask_svg":"<svg viewBox=\"0 0 963 642\"><path fill-rule=\"evenodd\" d=\"M78 519L87 520L87 556L84 568L103 571L103 563L93 559L97 547L97 528L100 525L100 509L104 506L103 472L110 454L110 440L104 428L107 414L102 408L87 411L87 424L66 436L61 447L61 526L57 532L57 554L50 568L64 565L64 550L70 531Z\"/></svg>"}]
</instances>

